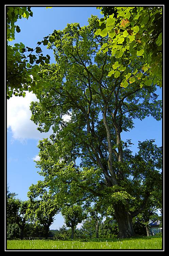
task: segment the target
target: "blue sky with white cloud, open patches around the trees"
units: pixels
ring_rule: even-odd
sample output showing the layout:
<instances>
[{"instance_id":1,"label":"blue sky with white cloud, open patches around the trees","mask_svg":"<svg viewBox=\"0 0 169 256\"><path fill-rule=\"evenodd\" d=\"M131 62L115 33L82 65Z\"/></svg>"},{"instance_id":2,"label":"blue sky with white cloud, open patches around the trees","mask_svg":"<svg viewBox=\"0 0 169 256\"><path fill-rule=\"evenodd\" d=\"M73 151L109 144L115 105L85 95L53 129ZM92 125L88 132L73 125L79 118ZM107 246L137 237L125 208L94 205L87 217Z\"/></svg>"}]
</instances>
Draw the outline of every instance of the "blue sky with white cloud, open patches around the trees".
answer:
<instances>
[{"instance_id":1,"label":"blue sky with white cloud, open patches around the trees","mask_svg":"<svg viewBox=\"0 0 169 256\"><path fill-rule=\"evenodd\" d=\"M15 25L21 29L15 34L15 41L22 42L25 46L35 48L38 41L53 32L54 29L62 30L67 23L80 23L80 26L88 25L88 18L93 15L102 17L96 7L60 7L55 6L46 9L44 6L32 7L33 17L18 19ZM41 47L41 45L40 45ZM41 47L43 54L51 56L50 63L54 62L52 50ZM162 89L157 90L159 98L162 98ZM41 134L36 130L36 125L30 120L29 105L36 100L35 95L26 93L26 97L13 96L7 100L7 185L11 192L18 194L21 200L27 200L27 192L31 184L36 184L42 177L37 173L34 160L37 159L39 150L38 141L47 138L47 134ZM151 117L144 120L135 120L135 128L121 134L121 139L131 139L133 152L137 151L138 141L155 139L158 146L162 145L162 122L157 122ZM64 224L63 217L58 214L50 229L56 229Z\"/></svg>"}]
</instances>

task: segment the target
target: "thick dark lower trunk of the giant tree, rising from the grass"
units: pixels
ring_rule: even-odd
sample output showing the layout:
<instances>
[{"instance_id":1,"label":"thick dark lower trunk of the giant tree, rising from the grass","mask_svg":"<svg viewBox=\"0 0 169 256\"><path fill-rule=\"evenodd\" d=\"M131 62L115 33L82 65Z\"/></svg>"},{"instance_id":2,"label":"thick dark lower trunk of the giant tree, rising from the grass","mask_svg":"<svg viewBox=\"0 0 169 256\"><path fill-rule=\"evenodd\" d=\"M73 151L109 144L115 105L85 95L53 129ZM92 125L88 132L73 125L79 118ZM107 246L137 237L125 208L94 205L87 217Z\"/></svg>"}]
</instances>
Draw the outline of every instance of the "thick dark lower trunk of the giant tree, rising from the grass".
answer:
<instances>
[{"instance_id":1,"label":"thick dark lower trunk of the giant tree, rising from the grass","mask_svg":"<svg viewBox=\"0 0 169 256\"><path fill-rule=\"evenodd\" d=\"M132 217L130 212L125 209L123 204L116 204L114 206L116 220L119 228L119 238L134 237L136 234L133 229Z\"/></svg>"}]
</instances>

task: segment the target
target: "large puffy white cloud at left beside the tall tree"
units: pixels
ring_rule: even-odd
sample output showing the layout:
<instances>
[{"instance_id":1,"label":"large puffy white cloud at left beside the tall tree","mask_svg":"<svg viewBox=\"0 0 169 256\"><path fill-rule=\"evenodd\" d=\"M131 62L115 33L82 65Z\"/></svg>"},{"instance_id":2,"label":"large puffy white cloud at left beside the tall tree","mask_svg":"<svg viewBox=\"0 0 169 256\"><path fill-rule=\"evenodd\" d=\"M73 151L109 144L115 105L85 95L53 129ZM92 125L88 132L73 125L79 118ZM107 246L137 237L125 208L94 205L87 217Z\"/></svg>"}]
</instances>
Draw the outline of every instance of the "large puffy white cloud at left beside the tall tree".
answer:
<instances>
[{"instance_id":1,"label":"large puffy white cloud at left beside the tall tree","mask_svg":"<svg viewBox=\"0 0 169 256\"><path fill-rule=\"evenodd\" d=\"M13 96L7 100L7 128L11 128L13 139L21 142L27 139L40 140L49 137L52 134L50 130L48 133L40 133L31 120L30 103L31 101L38 101L36 95L26 92L26 96Z\"/></svg>"}]
</instances>

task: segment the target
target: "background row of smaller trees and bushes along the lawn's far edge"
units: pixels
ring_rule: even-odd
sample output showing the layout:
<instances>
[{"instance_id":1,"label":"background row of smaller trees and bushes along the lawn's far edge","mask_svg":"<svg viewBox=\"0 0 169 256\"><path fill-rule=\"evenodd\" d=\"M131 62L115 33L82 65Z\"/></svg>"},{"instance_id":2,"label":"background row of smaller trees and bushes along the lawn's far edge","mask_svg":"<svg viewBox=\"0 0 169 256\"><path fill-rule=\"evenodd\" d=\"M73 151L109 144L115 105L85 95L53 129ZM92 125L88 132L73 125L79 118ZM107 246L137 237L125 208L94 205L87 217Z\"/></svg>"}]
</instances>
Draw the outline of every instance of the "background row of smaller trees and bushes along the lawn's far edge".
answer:
<instances>
[{"instance_id":1,"label":"background row of smaller trees and bushes along the lawn's far edge","mask_svg":"<svg viewBox=\"0 0 169 256\"><path fill-rule=\"evenodd\" d=\"M64 216L64 225L56 230L50 230L54 221L54 215L58 211L49 213L51 208L46 207L45 212L39 211L38 218L30 215L30 200L22 201L16 198L17 194L11 193L7 188L6 207L6 238L11 239L91 239L91 238L115 238L118 236L118 223L115 216L100 215L95 206L89 207L87 211L80 205L70 205L61 210ZM44 202L41 202L43 205ZM54 204L54 202L53 202ZM38 205L39 207L39 205ZM40 207L39 207L40 208ZM145 211L133 219L135 233L140 236L150 236L148 223L151 220L162 220L162 216L156 213L157 208L149 205L149 211ZM45 218L43 218L45 214ZM52 216L53 215L53 216ZM81 227L77 228L78 223Z\"/></svg>"}]
</instances>

